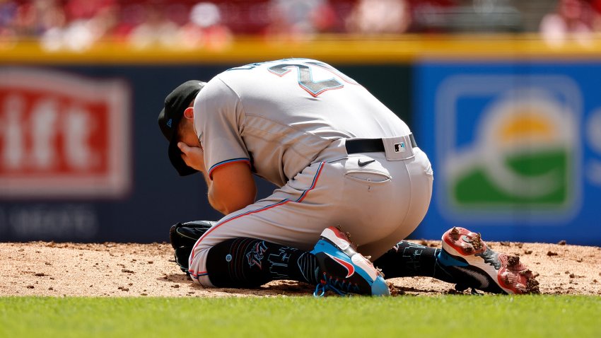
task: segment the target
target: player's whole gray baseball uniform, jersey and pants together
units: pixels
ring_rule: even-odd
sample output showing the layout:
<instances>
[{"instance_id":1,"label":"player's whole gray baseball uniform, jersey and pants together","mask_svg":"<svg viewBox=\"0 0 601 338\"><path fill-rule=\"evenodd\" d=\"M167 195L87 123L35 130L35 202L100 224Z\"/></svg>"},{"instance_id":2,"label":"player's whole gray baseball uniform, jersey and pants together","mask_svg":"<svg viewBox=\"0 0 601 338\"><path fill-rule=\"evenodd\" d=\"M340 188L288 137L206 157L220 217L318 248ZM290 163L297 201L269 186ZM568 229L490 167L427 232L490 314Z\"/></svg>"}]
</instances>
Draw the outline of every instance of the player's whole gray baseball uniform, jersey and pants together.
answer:
<instances>
[{"instance_id":1,"label":"player's whole gray baseball uniform, jersey and pants together","mask_svg":"<svg viewBox=\"0 0 601 338\"><path fill-rule=\"evenodd\" d=\"M209 176L244 161L280 187L199 238L189 272L203 286L212 286L206 255L223 240L310 250L323 229L340 226L363 255L377 258L428 209L433 173L407 124L323 62L282 59L218 74L194 101L194 128ZM383 139L385 151L347 153L348 139Z\"/></svg>"}]
</instances>

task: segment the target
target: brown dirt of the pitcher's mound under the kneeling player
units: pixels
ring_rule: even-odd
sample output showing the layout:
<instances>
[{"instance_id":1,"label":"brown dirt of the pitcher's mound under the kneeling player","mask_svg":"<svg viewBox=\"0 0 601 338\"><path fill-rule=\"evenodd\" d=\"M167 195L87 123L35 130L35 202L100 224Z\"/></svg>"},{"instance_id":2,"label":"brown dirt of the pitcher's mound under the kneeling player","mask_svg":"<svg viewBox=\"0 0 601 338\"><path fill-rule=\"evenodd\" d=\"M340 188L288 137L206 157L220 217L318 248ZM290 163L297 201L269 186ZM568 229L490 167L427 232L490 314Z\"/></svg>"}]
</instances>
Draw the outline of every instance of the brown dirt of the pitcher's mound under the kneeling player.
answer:
<instances>
[{"instance_id":1,"label":"brown dirt of the pitcher's mound under the kneeling player","mask_svg":"<svg viewBox=\"0 0 601 338\"><path fill-rule=\"evenodd\" d=\"M421 241L438 246L440 242ZM491 242L519 255L540 276L540 291L601 295L601 247ZM309 295L313 286L274 281L260 289L203 289L192 284L162 244L0 243L0 296L274 296ZM428 277L391 279L400 293L453 292ZM465 291L467 293L467 291Z\"/></svg>"}]
</instances>

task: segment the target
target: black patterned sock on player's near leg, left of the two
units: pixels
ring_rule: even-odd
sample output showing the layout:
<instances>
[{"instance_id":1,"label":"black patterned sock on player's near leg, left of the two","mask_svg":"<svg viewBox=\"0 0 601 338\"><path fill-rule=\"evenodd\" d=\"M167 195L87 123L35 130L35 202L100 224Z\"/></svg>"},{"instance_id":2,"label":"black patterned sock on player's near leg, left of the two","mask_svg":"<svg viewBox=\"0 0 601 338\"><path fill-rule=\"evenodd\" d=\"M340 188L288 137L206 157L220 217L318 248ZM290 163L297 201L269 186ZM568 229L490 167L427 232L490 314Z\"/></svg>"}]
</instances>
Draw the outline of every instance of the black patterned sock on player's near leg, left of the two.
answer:
<instances>
[{"instance_id":1,"label":"black patterned sock on player's near leg, left of the two","mask_svg":"<svg viewBox=\"0 0 601 338\"><path fill-rule=\"evenodd\" d=\"M206 271L218 287L252 288L276 279L319 283L313 254L255 238L232 238L211 247Z\"/></svg>"}]
</instances>

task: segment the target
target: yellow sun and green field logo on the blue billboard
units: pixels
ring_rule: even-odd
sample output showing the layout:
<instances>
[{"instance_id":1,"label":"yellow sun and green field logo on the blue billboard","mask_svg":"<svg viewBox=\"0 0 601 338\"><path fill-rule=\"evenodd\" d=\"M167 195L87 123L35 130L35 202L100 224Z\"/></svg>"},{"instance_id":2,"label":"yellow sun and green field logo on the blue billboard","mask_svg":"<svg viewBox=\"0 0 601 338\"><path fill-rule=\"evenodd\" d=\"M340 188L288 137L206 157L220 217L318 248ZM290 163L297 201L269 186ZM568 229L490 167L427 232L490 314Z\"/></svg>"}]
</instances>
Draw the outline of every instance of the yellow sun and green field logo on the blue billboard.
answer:
<instances>
[{"instance_id":1,"label":"yellow sun and green field logo on the blue billboard","mask_svg":"<svg viewBox=\"0 0 601 338\"><path fill-rule=\"evenodd\" d=\"M447 158L457 209L565 209L574 194L576 126L546 91L520 88L484 107L474 141Z\"/></svg>"}]
</instances>

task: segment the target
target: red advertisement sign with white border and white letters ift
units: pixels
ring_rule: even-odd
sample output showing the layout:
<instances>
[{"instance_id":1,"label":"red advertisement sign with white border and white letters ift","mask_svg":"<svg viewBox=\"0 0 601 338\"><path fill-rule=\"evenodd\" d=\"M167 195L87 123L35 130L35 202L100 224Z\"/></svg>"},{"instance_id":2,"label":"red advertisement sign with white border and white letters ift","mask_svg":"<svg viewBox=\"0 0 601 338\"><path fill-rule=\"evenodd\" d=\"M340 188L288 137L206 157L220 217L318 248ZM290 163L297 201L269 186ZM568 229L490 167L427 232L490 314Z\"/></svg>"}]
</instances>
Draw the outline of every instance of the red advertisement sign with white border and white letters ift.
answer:
<instances>
[{"instance_id":1,"label":"red advertisement sign with white border and white letters ift","mask_svg":"<svg viewBox=\"0 0 601 338\"><path fill-rule=\"evenodd\" d=\"M0 197L122 197L129 100L121 80L0 69Z\"/></svg>"}]
</instances>

